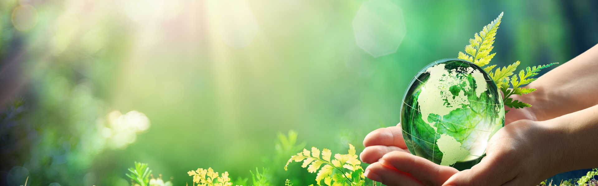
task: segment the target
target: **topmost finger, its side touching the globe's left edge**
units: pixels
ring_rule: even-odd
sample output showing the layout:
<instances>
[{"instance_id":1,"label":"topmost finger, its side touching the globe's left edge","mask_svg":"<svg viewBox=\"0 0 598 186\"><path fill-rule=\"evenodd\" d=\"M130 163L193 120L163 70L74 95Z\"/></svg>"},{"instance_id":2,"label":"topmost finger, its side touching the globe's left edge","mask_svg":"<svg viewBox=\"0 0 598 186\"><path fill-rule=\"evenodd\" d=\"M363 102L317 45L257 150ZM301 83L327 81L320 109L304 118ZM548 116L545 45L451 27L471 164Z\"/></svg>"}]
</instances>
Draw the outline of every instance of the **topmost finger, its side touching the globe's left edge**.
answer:
<instances>
[{"instance_id":1,"label":"topmost finger, its side touching the globe's left edge","mask_svg":"<svg viewBox=\"0 0 598 186\"><path fill-rule=\"evenodd\" d=\"M364 139L364 146L369 147L373 145L395 146L399 148L407 148L400 126L390 126L388 128L380 128L370 132Z\"/></svg>"}]
</instances>

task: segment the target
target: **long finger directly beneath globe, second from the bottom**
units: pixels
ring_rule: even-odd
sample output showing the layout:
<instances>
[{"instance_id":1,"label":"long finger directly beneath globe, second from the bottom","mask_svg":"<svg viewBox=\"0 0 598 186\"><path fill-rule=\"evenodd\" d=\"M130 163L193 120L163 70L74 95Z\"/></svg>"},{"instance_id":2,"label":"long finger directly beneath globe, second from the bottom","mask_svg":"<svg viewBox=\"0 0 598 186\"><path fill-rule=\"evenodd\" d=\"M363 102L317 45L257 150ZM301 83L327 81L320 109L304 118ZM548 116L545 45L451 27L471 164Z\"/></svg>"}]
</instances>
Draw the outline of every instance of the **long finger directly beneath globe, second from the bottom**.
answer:
<instances>
[{"instance_id":1,"label":"long finger directly beneath globe, second from the bottom","mask_svg":"<svg viewBox=\"0 0 598 186\"><path fill-rule=\"evenodd\" d=\"M441 166L423 157L403 151L392 151L385 154L379 163L412 175L424 185L441 185L459 170L449 166ZM385 178L382 178L385 179Z\"/></svg>"}]
</instances>

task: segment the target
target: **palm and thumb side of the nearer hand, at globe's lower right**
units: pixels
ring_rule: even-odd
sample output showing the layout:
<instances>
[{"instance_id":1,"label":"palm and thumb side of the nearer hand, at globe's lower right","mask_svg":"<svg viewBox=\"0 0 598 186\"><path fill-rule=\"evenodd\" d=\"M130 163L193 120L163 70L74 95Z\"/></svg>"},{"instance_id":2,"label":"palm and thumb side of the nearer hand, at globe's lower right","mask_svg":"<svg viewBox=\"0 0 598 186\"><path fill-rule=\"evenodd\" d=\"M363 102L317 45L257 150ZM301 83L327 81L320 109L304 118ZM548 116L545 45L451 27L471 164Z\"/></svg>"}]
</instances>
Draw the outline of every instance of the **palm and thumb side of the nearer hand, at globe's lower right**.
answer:
<instances>
[{"instance_id":1,"label":"palm and thumb side of the nearer hand, at globe's lower right","mask_svg":"<svg viewBox=\"0 0 598 186\"><path fill-rule=\"evenodd\" d=\"M537 185L559 173L559 137L545 122L512 122L490 139L480 163L443 185Z\"/></svg>"}]
</instances>

